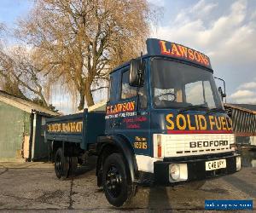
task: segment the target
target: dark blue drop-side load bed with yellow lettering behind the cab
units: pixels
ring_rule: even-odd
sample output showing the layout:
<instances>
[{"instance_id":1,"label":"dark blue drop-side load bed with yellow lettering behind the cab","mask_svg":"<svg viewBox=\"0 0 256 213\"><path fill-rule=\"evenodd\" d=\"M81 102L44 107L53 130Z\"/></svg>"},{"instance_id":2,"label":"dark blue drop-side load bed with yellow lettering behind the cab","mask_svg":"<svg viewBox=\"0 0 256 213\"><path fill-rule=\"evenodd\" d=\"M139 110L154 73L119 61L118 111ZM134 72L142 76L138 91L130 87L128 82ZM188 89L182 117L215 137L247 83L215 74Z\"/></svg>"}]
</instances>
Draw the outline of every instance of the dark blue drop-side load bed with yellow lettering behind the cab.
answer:
<instances>
[{"instance_id":1,"label":"dark blue drop-side load bed with yellow lettering behind the cab","mask_svg":"<svg viewBox=\"0 0 256 213\"><path fill-rule=\"evenodd\" d=\"M105 131L105 112L87 112L46 119L45 140L79 143L87 150Z\"/></svg>"}]
</instances>

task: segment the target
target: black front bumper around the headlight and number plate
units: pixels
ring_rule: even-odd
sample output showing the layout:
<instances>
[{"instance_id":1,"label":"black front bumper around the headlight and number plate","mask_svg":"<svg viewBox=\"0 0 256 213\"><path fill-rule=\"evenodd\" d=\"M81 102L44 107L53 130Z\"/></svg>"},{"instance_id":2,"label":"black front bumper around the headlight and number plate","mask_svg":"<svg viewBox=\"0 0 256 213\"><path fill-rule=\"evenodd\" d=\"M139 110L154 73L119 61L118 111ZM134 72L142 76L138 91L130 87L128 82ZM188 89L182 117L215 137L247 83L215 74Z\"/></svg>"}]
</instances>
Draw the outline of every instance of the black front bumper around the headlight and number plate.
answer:
<instances>
[{"instance_id":1,"label":"black front bumper around the headlight and number plate","mask_svg":"<svg viewBox=\"0 0 256 213\"><path fill-rule=\"evenodd\" d=\"M154 162L154 185L160 186L173 186L182 184L188 181L206 180L218 176L229 175L235 173L236 170L236 157L239 154L230 156L207 158L207 159L191 159L191 160L170 160L170 161L157 161ZM226 168L218 170L206 170L206 162L218 159L226 159ZM188 179L186 181L170 181L169 180L169 165L170 164L187 164Z\"/></svg>"}]
</instances>

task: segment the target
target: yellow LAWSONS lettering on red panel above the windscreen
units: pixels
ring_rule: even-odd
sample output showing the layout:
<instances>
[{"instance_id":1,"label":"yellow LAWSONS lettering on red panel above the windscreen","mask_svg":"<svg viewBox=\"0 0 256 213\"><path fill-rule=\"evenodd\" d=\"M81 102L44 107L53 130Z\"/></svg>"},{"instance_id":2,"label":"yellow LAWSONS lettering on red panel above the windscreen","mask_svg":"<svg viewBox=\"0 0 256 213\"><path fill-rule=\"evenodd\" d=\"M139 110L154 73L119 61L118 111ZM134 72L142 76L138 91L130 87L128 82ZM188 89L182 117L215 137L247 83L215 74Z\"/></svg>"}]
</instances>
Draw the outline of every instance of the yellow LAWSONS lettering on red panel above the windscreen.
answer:
<instances>
[{"instance_id":1,"label":"yellow LAWSONS lettering on red panel above the windscreen","mask_svg":"<svg viewBox=\"0 0 256 213\"><path fill-rule=\"evenodd\" d=\"M166 41L159 41L159 44L162 55L171 55L177 58L191 60L201 64L202 66L210 67L210 60L207 55L203 55L195 49L189 49L177 43L167 43Z\"/></svg>"}]
</instances>

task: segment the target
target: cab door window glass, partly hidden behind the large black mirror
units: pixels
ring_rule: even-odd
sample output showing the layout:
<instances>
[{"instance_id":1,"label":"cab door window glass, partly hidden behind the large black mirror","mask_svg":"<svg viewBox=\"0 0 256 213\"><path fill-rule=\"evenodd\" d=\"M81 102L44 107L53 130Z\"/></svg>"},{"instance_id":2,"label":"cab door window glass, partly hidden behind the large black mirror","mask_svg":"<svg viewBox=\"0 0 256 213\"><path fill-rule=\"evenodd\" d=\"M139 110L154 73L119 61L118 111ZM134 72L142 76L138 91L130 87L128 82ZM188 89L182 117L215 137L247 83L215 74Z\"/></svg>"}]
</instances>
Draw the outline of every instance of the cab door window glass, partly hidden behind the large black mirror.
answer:
<instances>
[{"instance_id":1,"label":"cab door window glass, partly hidden behind the large black mirror","mask_svg":"<svg viewBox=\"0 0 256 213\"><path fill-rule=\"evenodd\" d=\"M129 70L122 73L122 88L121 88L122 100L137 96L137 87L132 87L129 85L129 76L130 76ZM148 96L147 96L147 90L146 90L145 84L143 87L139 89L138 95L139 95L140 107L142 109L147 108Z\"/></svg>"}]
</instances>

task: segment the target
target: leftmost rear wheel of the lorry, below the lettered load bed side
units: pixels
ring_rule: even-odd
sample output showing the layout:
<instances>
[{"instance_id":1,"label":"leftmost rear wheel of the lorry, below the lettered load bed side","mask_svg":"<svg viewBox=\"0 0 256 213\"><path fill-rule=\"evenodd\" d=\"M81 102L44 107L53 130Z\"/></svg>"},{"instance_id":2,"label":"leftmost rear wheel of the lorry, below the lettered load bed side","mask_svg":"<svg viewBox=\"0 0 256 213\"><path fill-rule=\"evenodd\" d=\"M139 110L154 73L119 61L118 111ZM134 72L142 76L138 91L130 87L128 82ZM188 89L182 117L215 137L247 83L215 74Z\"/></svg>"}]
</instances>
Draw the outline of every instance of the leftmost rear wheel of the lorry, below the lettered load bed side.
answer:
<instances>
[{"instance_id":1,"label":"leftmost rear wheel of the lorry, below the lettered load bed side","mask_svg":"<svg viewBox=\"0 0 256 213\"><path fill-rule=\"evenodd\" d=\"M59 148L55 153L55 174L56 176L64 180L67 178L69 170L69 158L64 156L62 148Z\"/></svg>"}]
</instances>

